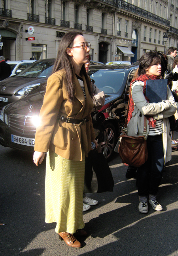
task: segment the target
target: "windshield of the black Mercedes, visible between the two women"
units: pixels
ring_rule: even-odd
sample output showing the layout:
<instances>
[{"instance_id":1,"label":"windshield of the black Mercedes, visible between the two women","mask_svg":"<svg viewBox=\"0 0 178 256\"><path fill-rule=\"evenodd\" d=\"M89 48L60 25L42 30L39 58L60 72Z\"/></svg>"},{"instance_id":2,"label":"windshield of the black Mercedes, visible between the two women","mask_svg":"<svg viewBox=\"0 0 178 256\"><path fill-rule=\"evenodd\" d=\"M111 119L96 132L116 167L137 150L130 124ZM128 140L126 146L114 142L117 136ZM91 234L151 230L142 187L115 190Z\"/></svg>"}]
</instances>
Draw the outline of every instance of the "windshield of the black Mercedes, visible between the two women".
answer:
<instances>
[{"instance_id":1,"label":"windshield of the black Mercedes, visible between the two women","mask_svg":"<svg viewBox=\"0 0 178 256\"><path fill-rule=\"evenodd\" d=\"M90 70L90 78L95 80L98 89L103 90L105 94L116 94L123 84L125 72L115 70Z\"/></svg>"}]
</instances>

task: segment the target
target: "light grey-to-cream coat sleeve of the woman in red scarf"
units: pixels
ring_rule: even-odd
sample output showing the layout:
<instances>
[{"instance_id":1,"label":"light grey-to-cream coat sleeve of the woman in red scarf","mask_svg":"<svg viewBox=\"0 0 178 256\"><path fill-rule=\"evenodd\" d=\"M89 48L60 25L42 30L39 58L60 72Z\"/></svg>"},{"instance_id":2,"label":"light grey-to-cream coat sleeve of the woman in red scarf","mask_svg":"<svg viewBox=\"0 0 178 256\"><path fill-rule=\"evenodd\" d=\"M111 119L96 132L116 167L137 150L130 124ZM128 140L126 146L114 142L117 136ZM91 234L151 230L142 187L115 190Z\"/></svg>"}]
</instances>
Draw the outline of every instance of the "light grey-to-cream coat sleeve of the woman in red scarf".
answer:
<instances>
[{"instance_id":1,"label":"light grey-to-cream coat sleeve of the woman in red scarf","mask_svg":"<svg viewBox=\"0 0 178 256\"><path fill-rule=\"evenodd\" d=\"M143 94L143 87L142 85L133 84L132 86L132 98L134 104L137 108L142 112L144 115L156 115L164 110L170 108L171 103L169 100L163 100L162 102L158 103L149 103L147 102L144 94Z\"/></svg>"}]
</instances>

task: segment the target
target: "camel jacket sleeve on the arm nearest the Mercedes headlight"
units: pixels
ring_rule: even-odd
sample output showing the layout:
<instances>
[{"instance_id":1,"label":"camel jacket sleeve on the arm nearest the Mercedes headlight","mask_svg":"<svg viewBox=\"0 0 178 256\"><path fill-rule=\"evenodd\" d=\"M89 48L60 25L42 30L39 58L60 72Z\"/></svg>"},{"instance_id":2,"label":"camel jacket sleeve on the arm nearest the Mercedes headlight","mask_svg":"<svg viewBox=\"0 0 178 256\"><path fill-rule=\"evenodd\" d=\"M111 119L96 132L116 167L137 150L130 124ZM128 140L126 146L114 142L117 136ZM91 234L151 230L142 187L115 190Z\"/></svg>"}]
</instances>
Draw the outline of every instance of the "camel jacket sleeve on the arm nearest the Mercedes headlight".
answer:
<instances>
[{"instance_id":1,"label":"camel jacket sleeve on the arm nearest the Mercedes headlight","mask_svg":"<svg viewBox=\"0 0 178 256\"><path fill-rule=\"evenodd\" d=\"M40 125L36 129L35 151L47 152L63 100L62 82L53 74L47 79L44 102L40 110Z\"/></svg>"}]
</instances>

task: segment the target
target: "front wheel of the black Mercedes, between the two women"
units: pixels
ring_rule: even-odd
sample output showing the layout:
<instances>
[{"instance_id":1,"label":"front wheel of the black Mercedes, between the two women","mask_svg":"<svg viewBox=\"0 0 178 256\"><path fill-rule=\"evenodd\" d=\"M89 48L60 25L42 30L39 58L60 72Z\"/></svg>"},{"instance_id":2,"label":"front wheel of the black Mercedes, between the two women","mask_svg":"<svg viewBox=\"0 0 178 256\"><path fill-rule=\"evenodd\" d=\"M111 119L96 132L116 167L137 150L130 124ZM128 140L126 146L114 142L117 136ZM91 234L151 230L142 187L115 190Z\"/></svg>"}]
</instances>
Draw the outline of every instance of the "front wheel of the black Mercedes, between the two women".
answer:
<instances>
[{"instance_id":1,"label":"front wheel of the black Mercedes, between the two women","mask_svg":"<svg viewBox=\"0 0 178 256\"><path fill-rule=\"evenodd\" d=\"M116 146L116 129L112 123L105 123L104 129L101 142L98 143L98 152L104 154L105 158L110 161Z\"/></svg>"}]
</instances>

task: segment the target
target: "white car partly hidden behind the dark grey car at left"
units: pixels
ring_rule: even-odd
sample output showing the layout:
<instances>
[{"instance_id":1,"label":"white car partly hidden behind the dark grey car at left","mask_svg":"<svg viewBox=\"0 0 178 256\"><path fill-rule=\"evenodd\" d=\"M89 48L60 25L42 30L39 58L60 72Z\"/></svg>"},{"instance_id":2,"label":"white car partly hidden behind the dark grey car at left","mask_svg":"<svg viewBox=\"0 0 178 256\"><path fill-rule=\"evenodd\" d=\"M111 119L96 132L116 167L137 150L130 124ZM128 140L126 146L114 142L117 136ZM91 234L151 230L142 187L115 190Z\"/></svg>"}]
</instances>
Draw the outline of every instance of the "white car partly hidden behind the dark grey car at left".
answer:
<instances>
[{"instance_id":1,"label":"white car partly hidden behind the dark grey car at left","mask_svg":"<svg viewBox=\"0 0 178 256\"><path fill-rule=\"evenodd\" d=\"M24 70L26 67L28 67L28 65L32 64L33 62L35 62L35 60L17 60L17 61L9 61L6 62L7 64L10 65L11 67L11 75L16 75L18 73L20 73L22 70Z\"/></svg>"}]
</instances>

